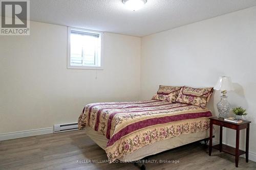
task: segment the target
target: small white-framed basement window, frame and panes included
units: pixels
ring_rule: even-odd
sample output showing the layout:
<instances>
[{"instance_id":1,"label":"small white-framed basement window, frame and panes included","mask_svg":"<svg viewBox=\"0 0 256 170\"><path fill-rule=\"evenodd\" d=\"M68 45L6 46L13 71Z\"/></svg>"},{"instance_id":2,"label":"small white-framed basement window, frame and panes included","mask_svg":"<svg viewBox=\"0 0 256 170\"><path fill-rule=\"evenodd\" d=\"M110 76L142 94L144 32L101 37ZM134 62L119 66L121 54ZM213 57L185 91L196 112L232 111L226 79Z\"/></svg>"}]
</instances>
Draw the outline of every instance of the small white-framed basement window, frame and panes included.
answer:
<instances>
[{"instance_id":1,"label":"small white-framed basement window, frame and panes included","mask_svg":"<svg viewBox=\"0 0 256 170\"><path fill-rule=\"evenodd\" d=\"M102 69L102 33L84 29L68 29L68 68Z\"/></svg>"}]
</instances>

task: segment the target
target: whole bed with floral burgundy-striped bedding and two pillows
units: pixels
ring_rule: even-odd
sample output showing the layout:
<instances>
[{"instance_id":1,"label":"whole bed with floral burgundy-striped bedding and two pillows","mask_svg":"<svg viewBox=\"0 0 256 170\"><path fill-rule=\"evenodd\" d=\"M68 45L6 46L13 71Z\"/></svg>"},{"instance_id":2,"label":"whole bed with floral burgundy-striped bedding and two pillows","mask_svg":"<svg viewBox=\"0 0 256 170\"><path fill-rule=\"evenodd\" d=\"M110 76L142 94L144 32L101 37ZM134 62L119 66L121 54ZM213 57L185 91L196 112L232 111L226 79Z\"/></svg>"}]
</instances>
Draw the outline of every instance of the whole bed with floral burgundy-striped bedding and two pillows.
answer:
<instances>
[{"instance_id":1,"label":"whole bed with floral burgundy-striped bedding and two pillows","mask_svg":"<svg viewBox=\"0 0 256 170\"><path fill-rule=\"evenodd\" d=\"M91 103L78 128L105 150L109 162L136 161L209 137L206 104L213 88L159 86L152 100Z\"/></svg>"}]
</instances>

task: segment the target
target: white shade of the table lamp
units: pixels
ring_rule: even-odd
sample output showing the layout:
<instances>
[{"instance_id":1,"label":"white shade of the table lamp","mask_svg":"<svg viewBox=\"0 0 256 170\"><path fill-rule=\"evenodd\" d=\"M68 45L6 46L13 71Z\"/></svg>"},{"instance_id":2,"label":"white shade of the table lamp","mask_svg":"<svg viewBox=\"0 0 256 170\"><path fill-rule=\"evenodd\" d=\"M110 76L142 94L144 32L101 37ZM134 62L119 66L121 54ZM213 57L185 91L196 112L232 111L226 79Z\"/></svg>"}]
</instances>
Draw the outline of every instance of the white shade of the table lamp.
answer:
<instances>
[{"instance_id":1,"label":"white shade of the table lamp","mask_svg":"<svg viewBox=\"0 0 256 170\"><path fill-rule=\"evenodd\" d=\"M222 76L219 78L217 84L214 86L215 90L234 90L232 81L230 77Z\"/></svg>"}]
</instances>

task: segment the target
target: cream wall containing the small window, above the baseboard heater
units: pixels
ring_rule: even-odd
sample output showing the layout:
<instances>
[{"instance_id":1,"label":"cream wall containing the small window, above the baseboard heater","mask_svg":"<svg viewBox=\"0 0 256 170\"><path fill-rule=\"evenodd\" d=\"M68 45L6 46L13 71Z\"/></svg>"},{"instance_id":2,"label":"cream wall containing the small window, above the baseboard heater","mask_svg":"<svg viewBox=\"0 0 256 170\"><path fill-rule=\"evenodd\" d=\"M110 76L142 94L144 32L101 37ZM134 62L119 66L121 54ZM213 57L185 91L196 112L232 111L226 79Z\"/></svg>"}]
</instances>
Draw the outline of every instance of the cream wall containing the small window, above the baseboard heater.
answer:
<instances>
[{"instance_id":1,"label":"cream wall containing the small window, above the baseboard heater","mask_svg":"<svg viewBox=\"0 0 256 170\"><path fill-rule=\"evenodd\" d=\"M0 36L0 134L77 122L91 102L139 99L140 38L104 34L104 70L67 69L67 27Z\"/></svg>"}]
</instances>

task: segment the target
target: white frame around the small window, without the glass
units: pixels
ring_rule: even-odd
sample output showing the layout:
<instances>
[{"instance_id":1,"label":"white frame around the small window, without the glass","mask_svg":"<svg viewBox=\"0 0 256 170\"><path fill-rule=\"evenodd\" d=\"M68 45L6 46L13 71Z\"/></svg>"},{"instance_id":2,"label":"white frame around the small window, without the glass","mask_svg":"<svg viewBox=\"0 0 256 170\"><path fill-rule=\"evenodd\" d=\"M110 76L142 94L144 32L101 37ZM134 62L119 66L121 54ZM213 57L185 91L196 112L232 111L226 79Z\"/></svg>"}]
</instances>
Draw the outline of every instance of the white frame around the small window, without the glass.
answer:
<instances>
[{"instance_id":1,"label":"white frame around the small window, without the glass","mask_svg":"<svg viewBox=\"0 0 256 170\"><path fill-rule=\"evenodd\" d=\"M100 66L74 66L71 65L70 61L71 61L71 41L70 41L70 36L71 36L71 31L80 31L80 32L84 32L84 33L93 33L93 34L99 34L99 38L100 38ZM103 35L104 32L101 31L93 31L93 30L87 30L87 29L80 29L80 28L74 28L74 27L68 27L68 49L67 49L67 68L68 69L103 69L103 59L102 59L102 52L103 52Z\"/></svg>"}]
</instances>

